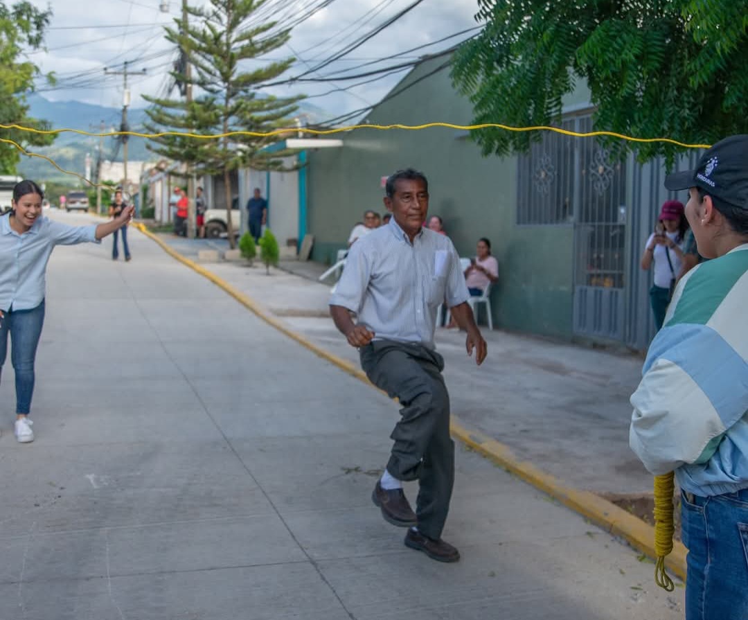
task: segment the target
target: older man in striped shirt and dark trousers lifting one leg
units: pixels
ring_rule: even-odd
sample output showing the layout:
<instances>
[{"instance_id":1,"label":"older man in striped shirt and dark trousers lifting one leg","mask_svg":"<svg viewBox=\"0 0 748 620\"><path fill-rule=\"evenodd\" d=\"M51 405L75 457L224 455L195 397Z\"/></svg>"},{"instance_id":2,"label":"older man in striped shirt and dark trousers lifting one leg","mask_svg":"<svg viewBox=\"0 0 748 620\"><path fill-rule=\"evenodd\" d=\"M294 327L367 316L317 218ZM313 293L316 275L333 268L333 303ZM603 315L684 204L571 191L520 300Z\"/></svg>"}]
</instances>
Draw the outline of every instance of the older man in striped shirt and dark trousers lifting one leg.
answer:
<instances>
[{"instance_id":1,"label":"older man in striped shirt and dark trousers lifting one leg","mask_svg":"<svg viewBox=\"0 0 748 620\"><path fill-rule=\"evenodd\" d=\"M424 229L429 185L420 172L398 171L387 179L384 205L393 218L362 239L348 254L330 299L337 328L361 352L370 380L397 397L402 416L392 432L387 469L372 499L385 520L408 527L405 545L440 562L456 562L459 551L441 539L454 483L450 398L435 351L436 313L445 300L468 332L468 354L486 355L467 303L470 294L450 239ZM354 322L352 313L357 315ZM418 480L413 512L403 480Z\"/></svg>"}]
</instances>

